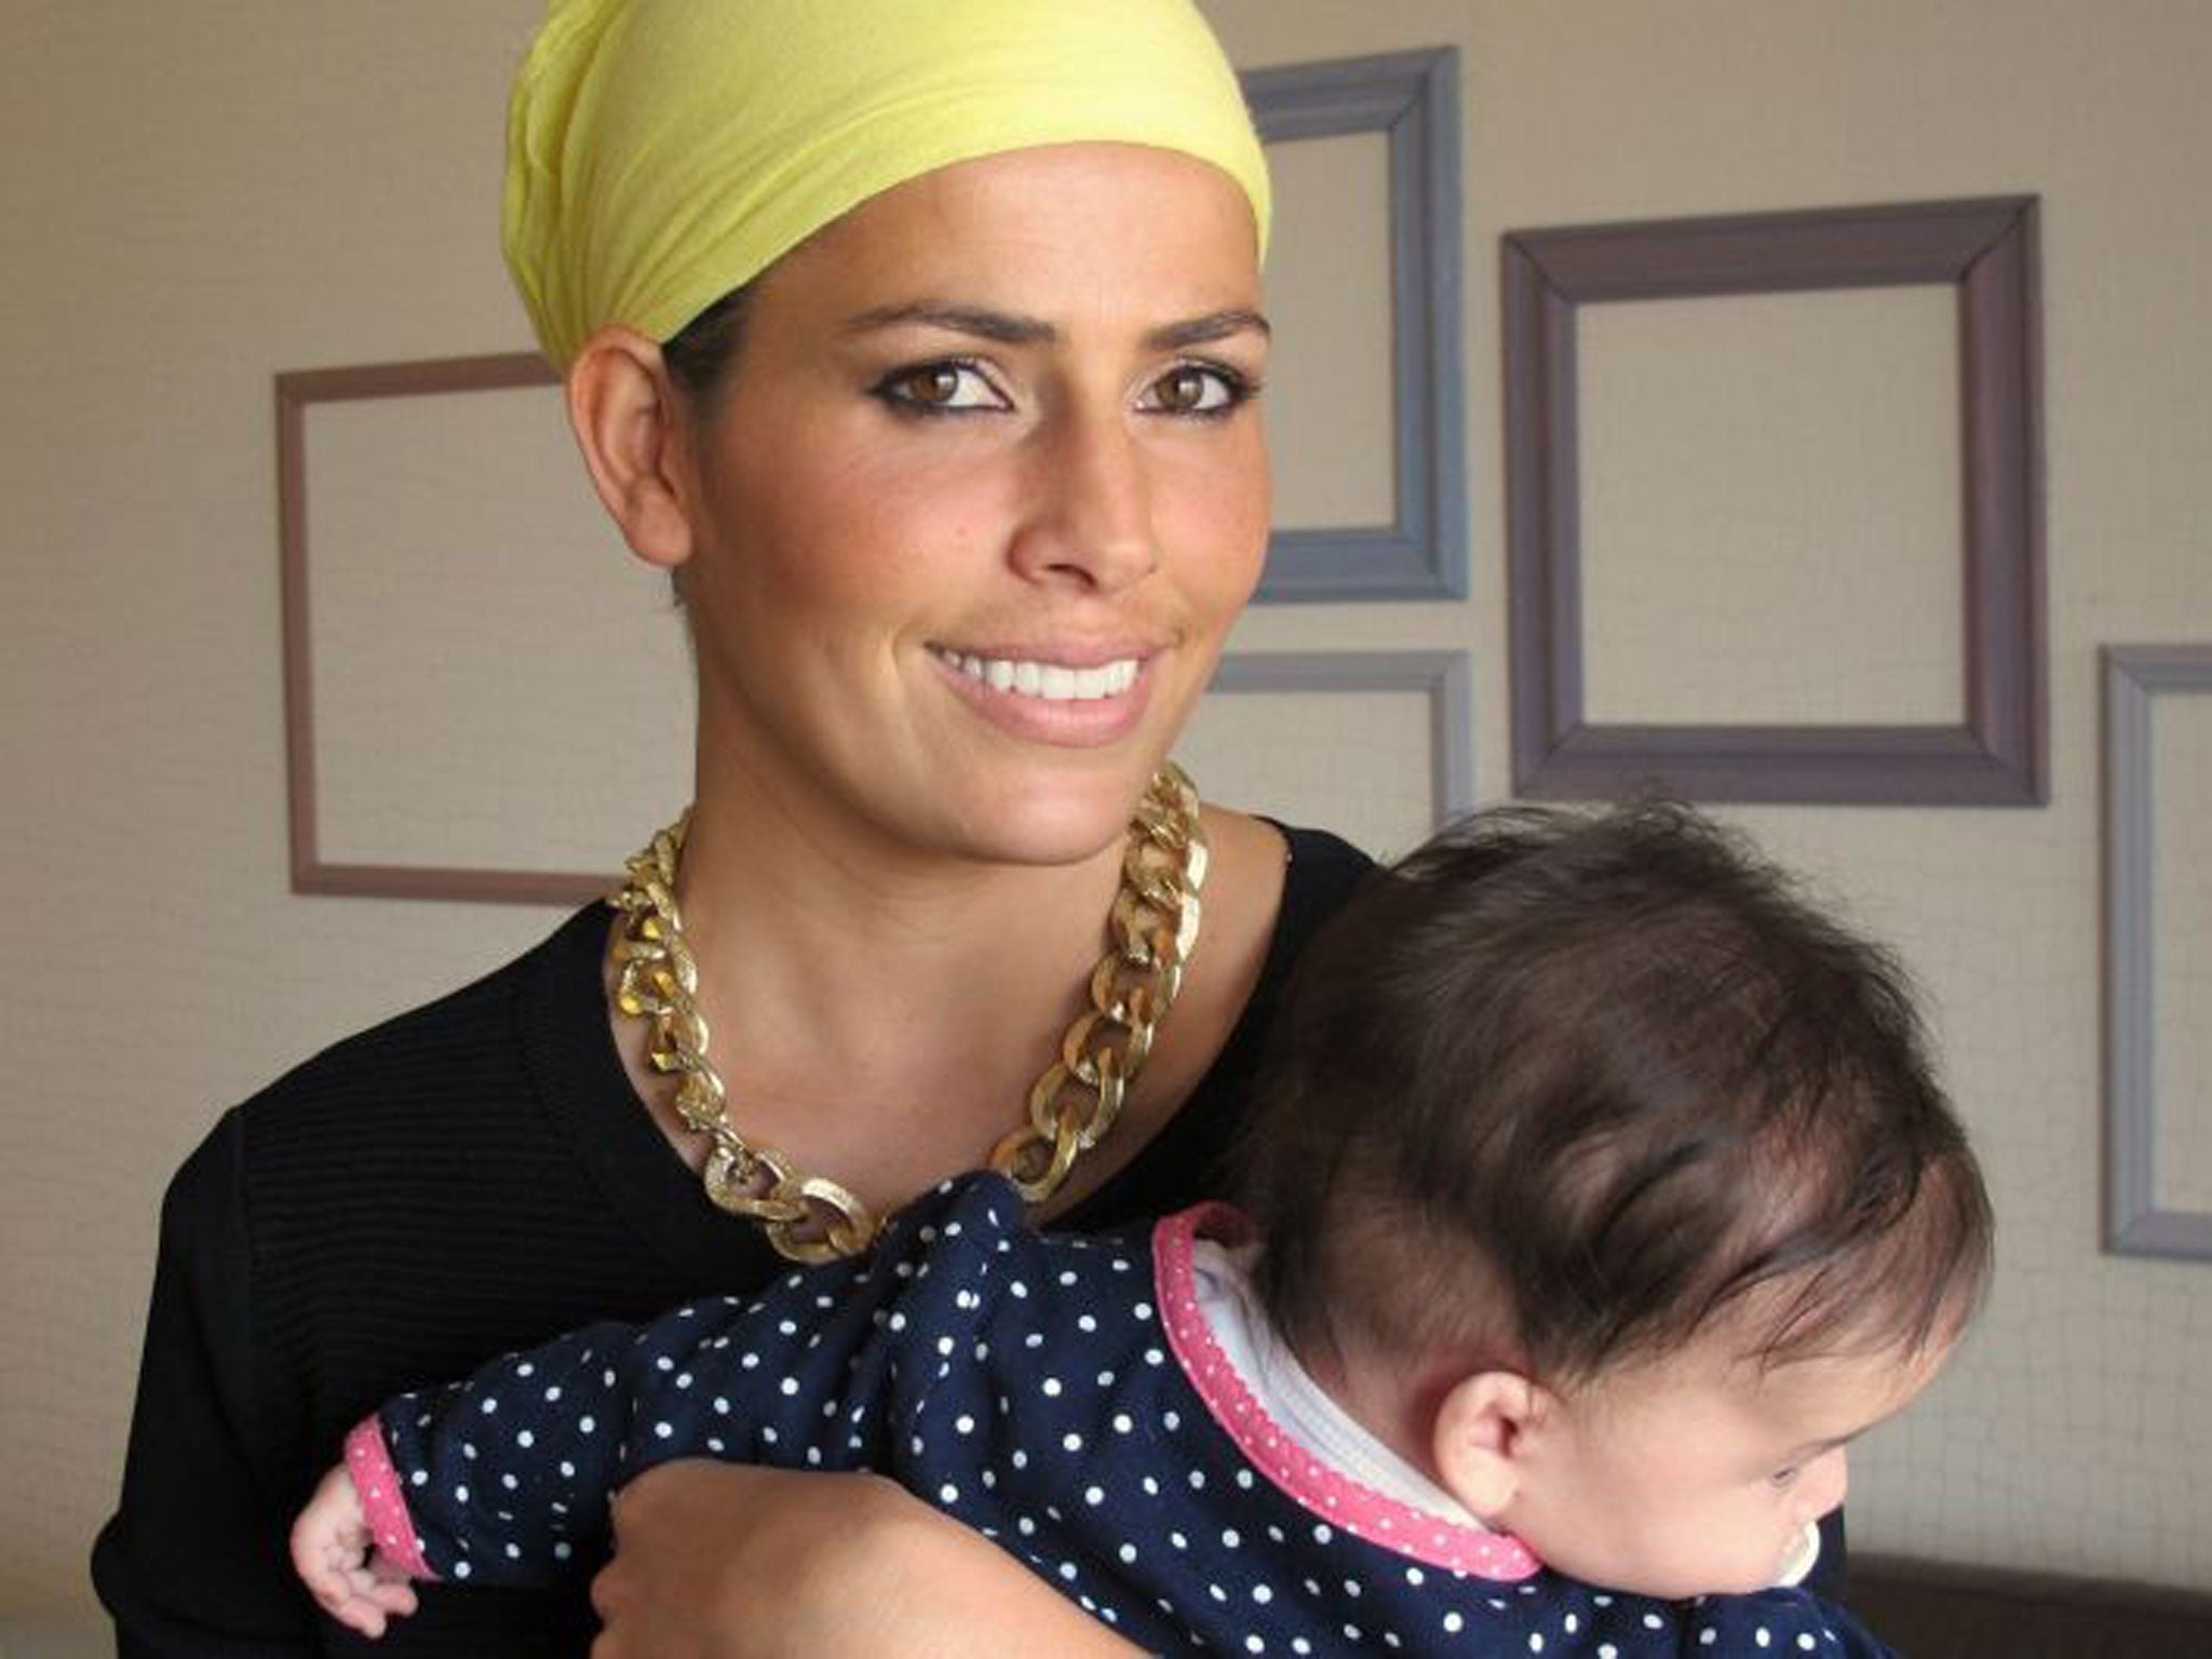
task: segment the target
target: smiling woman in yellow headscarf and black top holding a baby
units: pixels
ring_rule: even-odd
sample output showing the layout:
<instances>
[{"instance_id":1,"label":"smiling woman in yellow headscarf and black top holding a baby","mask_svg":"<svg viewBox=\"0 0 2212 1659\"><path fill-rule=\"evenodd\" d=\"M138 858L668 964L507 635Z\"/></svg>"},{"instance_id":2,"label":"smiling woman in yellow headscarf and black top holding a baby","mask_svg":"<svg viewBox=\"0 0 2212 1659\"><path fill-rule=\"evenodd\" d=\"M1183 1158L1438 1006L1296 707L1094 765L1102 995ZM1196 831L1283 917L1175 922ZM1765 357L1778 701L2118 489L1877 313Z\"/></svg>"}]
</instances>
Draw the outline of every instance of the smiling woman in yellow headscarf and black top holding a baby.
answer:
<instances>
[{"instance_id":1,"label":"smiling woman in yellow headscarf and black top holding a baby","mask_svg":"<svg viewBox=\"0 0 2212 1659\"><path fill-rule=\"evenodd\" d=\"M1048 1225L1208 1190L1363 867L1161 770L1265 546L1265 219L1188 0L555 0L509 265L684 599L697 799L613 916L177 1177L95 1553L126 1655L336 1646L283 1526L396 1387L863 1248L980 1161ZM1124 1650L867 1480L675 1467L617 1533L602 1655ZM427 1597L392 1648L588 1630Z\"/></svg>"}]
</instances>

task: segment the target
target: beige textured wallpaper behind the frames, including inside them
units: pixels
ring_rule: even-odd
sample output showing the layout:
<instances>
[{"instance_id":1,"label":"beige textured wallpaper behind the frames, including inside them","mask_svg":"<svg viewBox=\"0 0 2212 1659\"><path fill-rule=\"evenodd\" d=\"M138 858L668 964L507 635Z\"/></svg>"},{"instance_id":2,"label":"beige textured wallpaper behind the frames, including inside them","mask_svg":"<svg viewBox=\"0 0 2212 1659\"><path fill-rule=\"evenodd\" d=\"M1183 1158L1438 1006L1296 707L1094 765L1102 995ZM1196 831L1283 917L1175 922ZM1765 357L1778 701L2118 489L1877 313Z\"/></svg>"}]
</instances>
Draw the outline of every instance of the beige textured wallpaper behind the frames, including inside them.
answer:
<instances>
[{"instance_id":1,"label":"beige textured wallpaper behind the frames, including inside them","mask_svg":"<svg viewBox=\"0 0 2212 1659\"><path fill-rule=\"evenodd\" d=\"M18 980L0 998L0 1325L18 1340L0 1354L0 1615L86 1595L175 1161L285 1064L557 916L288 891L270 407L283 369L526 345L493 210L507 77L535 11L77 0L11 13L0 942ZM1234 648L1462 653L1460 761L1482 799L1506 790L1509 717L1498 234L2042 195L2051 805L1734 816L1907 953L2000 1214L1982 1327L1856 1453L1854 1542L2212 1582L2212 1265L2099 1250L2095 675L2104 641L2212 639L2212 9L1208 11L1245 64L1462 53L1471 593L1276 606ZM1367 518L1387 500L1378 153L1345 139L1283 159L1285 522ZM1951 323L1931 299L1606 319L1588 365L1601 476L1586 549L1608 714L1958 706ZM1761 380L1774 354L1787 372ZM666 602L577 511L566 440L529 396L447 403L314 416L330 462L314 626L334 699L332 849L619 856L684 787ZM515 471L456 465L473 453ZM431 489L473 507L425 518ZM608 641L646 666L615 672ZM1402 690L1234 692L1201 710L1186 754L1223 799L1394 849L1436 810L1429 719ZM518 730L560 741L522 752ZM2203 703L2161 706L2159 745L2161 1093L2181 1106L2161 1152L2174 1201L2203 1206Z\"/></svg>"}]
</instances>

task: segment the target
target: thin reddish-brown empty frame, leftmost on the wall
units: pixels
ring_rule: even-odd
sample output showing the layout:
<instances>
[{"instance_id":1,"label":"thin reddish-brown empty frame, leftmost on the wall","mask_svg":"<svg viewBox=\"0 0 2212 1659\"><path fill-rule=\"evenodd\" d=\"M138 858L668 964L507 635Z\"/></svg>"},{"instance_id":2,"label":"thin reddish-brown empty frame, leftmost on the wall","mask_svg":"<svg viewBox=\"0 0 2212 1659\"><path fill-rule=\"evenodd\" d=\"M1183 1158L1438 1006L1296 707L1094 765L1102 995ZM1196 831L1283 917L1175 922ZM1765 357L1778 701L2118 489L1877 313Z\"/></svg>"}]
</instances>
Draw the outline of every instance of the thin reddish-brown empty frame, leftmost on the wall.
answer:
<instances>
[{"instance_id":1,"label":"thin reddish-brown empty frame, leftmost on the wall","mask_svg":"<svg viewBox=\"0 0 2212 1659\"><path fill-rule=\"evenodd\" d=\"M363 898L478 898L509 905L580 905L617 872L458 869L334 865L321 854L314 799L314 653L307 606L307 405L352 398L429 398L560 385L535 352L427 363L367 363L276 376L276 540L283 584L285 785L292 825L292 891Z\"/></svg>"}]
</instances>

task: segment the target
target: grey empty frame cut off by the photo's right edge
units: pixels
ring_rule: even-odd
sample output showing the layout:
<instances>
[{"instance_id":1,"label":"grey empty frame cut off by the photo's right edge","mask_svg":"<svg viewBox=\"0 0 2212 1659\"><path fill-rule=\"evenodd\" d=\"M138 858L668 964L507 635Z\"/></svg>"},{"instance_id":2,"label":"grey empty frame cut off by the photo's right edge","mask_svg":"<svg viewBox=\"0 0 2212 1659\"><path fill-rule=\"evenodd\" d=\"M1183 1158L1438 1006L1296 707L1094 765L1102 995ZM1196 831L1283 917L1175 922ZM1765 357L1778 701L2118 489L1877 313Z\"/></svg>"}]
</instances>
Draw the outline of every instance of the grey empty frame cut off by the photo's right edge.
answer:
<instances>
[{"instance_id":1,"label":"grey empty frame cut off by the photo's right edge","mask_svg":"<svg viewBox=\"0 0 2212 1659\"><path fill-rule=\"evenodd\" d=\"M2154 902L2157 768L2150 706L2212 697L2212 644L2104 650L2104 1124L2106 1248L2212 1261L2212 1210L2159 1206Z\"/></svg>"}]
</instances>

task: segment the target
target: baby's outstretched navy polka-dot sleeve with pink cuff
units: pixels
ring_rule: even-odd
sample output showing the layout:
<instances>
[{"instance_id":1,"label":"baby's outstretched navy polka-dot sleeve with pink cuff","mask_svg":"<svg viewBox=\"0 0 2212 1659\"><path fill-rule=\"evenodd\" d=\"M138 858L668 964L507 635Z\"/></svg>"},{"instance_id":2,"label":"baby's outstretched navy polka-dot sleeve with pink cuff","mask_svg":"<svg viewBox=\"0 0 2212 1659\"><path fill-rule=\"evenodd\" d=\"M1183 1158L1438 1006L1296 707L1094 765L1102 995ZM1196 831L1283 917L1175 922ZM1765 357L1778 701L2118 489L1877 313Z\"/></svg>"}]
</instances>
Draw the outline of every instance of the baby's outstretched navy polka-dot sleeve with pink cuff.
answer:
<instances>
[{"instance_id":1,"label":"baby's outstretched navy polka-dot sleeve with pink cuff","mask_svg":"<svg viewBox=\"0 0 2212 1659\"><path fill-rule=\"evenodd\" d=\"M967 1318L945 1256L991 1194L1020 1217L998 1177L953 1183L865 1259L641 1327L591 1325L389 1400L347 1442L378 1551L420 1577L546 1584L597 1566L611 1495L675 1458L896 1471L891 1422L940 1363L900 1360L922 1329Z\"/></svg>"}]
</instances>

